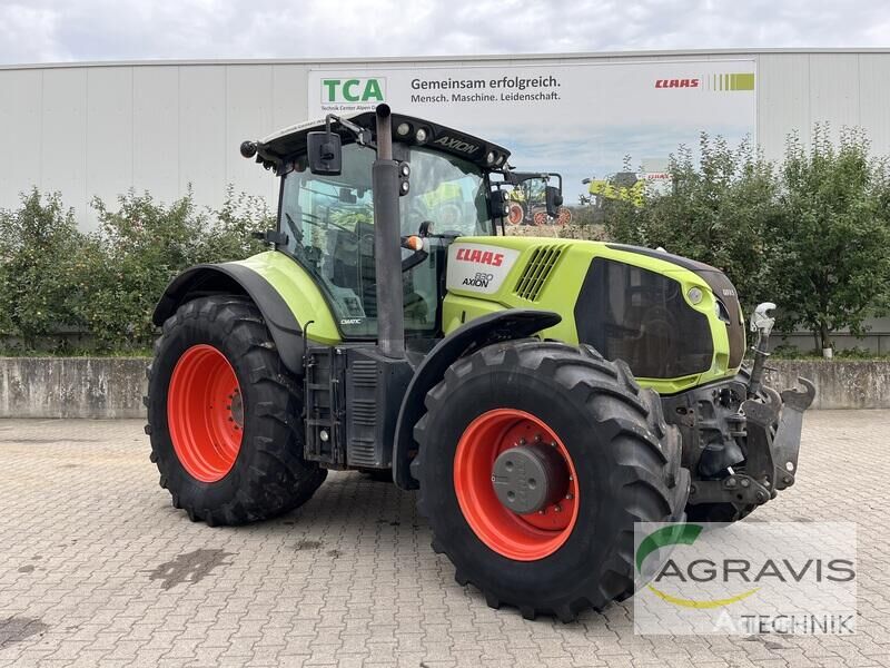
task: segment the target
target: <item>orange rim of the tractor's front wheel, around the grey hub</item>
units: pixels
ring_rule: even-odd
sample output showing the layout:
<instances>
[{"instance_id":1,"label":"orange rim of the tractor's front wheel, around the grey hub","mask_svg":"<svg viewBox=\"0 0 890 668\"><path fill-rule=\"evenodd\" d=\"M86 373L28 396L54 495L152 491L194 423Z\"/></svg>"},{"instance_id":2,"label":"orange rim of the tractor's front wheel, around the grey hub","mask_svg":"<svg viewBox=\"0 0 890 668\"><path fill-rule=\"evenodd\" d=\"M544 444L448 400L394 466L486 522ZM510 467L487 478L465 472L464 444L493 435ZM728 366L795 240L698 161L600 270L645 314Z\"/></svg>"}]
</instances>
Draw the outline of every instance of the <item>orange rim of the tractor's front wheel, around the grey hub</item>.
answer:
<instances>
[{"instance_id":1,"label":"orange rim of the tractor's front wheel, around the grey hub","mask_svg":"<svg viewBox=\"0 0 890 668\"><path fill-rule=\"evenodd\" d=\"M526 441L556 449L568 471L565 498L543 511L516 514L497 498L492 475L497 455ZM454 491L467 523L488 548L516 561L553 554L577 522L577 475L563 442L544 421L514 409L496 409L476 418L464 431L454 455Z\"/></svg>"}]
</instances>

